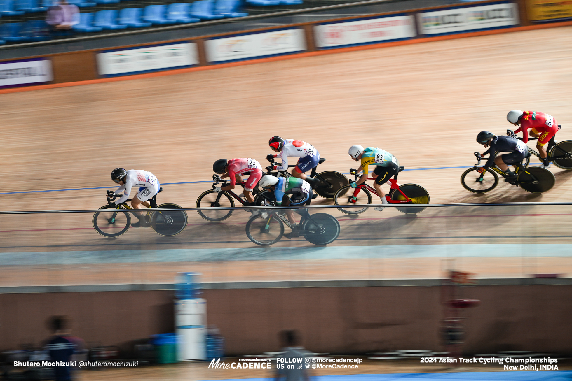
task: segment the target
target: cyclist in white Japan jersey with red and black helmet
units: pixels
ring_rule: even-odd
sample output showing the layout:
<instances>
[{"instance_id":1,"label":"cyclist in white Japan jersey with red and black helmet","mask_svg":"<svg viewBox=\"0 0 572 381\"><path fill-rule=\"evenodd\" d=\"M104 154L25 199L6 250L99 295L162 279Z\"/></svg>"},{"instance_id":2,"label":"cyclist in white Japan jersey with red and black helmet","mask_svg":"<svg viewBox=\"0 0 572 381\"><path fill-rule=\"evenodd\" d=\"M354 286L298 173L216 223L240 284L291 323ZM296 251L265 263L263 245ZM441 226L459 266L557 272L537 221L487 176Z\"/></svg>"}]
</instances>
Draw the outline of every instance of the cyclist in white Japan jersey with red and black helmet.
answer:
<instances>
[{"instance_id":1,"label":"cyclist in white Japan jersey with red and black helmet","mask_svg":"<svg viewBox=\"0 0 572 381\"><path fill-rule=\"evenodd\" d=\"M306 173L314 169L320 161L320 154L314 146L301 140L283 139L280 137L272 137L268 141L268 145L277 155L268 154L267 159L279 157L282 159L281 166L273 166L273 170L285 171L288 169L288 157L299 158L296 167L292 170L292 176L303 179L313 186L317 181L311 177L307 177Z\"/></svg>"}]
</instances>

